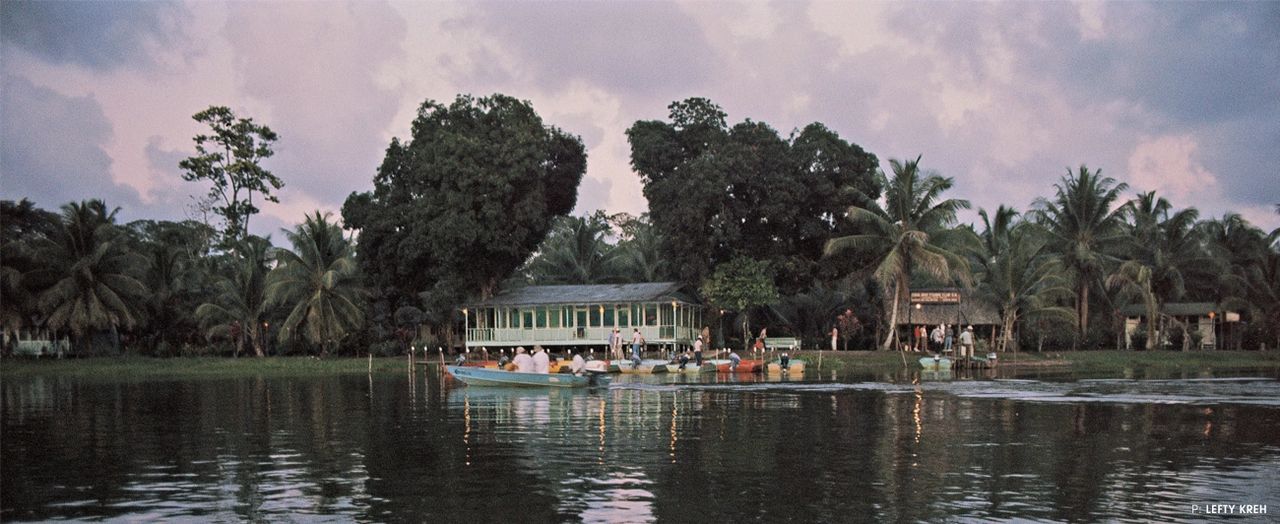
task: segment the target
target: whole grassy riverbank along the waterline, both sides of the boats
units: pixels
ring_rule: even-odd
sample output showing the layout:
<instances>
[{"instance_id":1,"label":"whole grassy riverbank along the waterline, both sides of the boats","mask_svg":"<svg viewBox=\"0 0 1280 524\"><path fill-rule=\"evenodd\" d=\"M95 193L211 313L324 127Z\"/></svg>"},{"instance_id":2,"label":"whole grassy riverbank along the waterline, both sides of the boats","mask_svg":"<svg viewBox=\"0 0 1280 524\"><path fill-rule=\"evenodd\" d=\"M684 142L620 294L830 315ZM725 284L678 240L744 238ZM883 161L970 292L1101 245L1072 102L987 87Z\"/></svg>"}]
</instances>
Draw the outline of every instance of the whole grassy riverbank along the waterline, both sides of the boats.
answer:
<instances>
[{"instance_id":1,"label":"whole grassy riverbank along the waterline, both sides of the boats","mask_svg":"<svg viewBox=\"0 0 1280 524\"><path fill-rule=\"evenodd\" d=\"M771 354L769 357L774 357ZM908 366L922 354L906 354ZM824 351L822 369L893 372L902 368L897 351ZM750 356L748 356L750 357ZM818 351L792 351L817 366ZM230 378L308 377L352 373L406 373L404 357L189 357L150 359L137 356L27 360L5 359L0 378L58 375L78 378ZM1001 368L1061 368L1084 373L1120 373L1133 369L1226 372L1270 369L1280 373L1280 351L1046 351L1000 354ZM814 368L815 369L815 368Z\"/></svg>"}]
</instances>

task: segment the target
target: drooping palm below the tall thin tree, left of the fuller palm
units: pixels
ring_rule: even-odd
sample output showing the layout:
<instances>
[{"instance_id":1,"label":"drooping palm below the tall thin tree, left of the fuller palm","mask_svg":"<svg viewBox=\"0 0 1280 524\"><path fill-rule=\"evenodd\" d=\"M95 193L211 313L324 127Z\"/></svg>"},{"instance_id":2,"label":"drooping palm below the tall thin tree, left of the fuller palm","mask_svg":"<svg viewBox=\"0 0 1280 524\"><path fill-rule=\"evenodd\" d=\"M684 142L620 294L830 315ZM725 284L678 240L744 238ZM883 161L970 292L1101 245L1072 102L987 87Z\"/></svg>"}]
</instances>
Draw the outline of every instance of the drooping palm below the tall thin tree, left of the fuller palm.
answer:
<instances>
[{"instance_id":1,"label":"drooping palm below the tall thin tree, left of the fuller palm","mask_svg":"<svg viewBox=\"0 0 1280 524\"><path fill-rule=\"evenodd\" d=\"M262 333L266 329L266 272L271 242L248 236L233 245L224 277L214 281L210 301L196 307L196 319L207 337L236 341L236 356L247 341L255 356L265 356ZM261 329L261 331L260 331Z\"/></svg>"}]
</instances>

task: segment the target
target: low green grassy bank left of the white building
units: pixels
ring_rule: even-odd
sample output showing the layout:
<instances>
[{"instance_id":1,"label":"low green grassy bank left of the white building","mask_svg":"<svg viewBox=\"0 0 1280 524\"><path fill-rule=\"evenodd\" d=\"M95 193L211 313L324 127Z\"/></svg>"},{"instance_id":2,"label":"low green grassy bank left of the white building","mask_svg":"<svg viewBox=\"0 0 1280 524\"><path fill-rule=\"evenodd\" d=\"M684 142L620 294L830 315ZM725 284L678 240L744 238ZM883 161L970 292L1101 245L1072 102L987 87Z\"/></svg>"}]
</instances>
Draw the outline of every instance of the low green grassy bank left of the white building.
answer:
<instances>
[{"instance_id":1,"label":"low green grassy bank left of the white building","mask_svg":"<svg viewBox=\"0 0 1280 524\"><path fill-rule=\"evenodd\" d=\"M406 359L374 359L374 373L404 373ZM334 357L99 357L72 360L5 359L0 378L58 375L77 378L233 378L233 377L320 377L369 373L369 359Z\"/></svg>"}]
</instances>

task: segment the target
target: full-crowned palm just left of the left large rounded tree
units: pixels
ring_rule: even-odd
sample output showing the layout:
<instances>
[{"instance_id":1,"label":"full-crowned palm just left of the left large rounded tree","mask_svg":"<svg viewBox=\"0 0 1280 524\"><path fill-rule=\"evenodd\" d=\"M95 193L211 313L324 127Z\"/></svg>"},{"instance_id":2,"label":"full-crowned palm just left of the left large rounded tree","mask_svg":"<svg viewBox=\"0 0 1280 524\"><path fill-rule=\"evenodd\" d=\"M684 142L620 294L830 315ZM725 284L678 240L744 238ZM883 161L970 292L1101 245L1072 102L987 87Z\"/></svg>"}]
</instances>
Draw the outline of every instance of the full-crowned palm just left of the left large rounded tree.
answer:
<instances>
[{"instance_id":1,"label":"full-crowned palm just left of the left large rounded tree","mask_svg":"<svg viewBox=\"0 0 1280 524\"><path fill-rule=\"evenodd\" d=\"M356 249L316 211L293 231L285 231L293 251L276 251L276 265L266 277L266 302L288 310L280 341L301 333L328 355L334 345L365 323L365 290L360 284Z\"/></svg>"}]
</instances>

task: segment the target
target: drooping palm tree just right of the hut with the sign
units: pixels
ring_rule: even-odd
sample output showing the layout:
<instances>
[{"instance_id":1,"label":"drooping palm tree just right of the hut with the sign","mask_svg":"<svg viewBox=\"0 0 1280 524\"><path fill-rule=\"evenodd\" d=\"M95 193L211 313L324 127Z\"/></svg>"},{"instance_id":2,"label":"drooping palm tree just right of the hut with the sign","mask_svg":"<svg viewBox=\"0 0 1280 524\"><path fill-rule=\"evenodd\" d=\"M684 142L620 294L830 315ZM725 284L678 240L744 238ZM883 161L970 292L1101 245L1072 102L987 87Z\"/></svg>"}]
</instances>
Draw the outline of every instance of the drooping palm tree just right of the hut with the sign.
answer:
<instances>
[{"instance_id":1,"label":"drooping palm tree just right of the hut with the sign","mask_svg":"<svg viewBox=\"0 0 1280 524\"><path fill-rule=\"evenodd\" d=\"M974 252L978 295L1000 309L1001 337L997 351L1016 347L1019 322L1074 320L1069 309L1057 306L1071 288L1062 277L1062 264L1050 254L1048 240L1034 225L1019 222L1018 211L1000 206L995 219L979 210L984 229Z\"/></svg>"}]
</instances>

